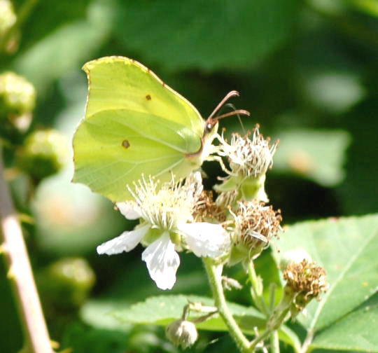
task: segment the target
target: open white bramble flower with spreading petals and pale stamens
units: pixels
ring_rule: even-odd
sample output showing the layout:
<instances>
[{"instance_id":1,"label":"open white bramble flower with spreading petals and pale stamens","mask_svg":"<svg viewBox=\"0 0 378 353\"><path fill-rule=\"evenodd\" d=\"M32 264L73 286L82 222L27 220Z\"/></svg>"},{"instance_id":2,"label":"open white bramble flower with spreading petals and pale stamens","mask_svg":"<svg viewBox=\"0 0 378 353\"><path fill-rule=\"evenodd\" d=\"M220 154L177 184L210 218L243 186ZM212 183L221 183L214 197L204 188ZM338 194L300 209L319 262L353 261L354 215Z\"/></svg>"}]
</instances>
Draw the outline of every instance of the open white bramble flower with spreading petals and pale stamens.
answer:
<instances>
[{"instance_id":1,"label":"open white bramble flower with spreading petals and pale stamens","mask_svg":"<svg viewBox=\"0 0 378 353\"><path fill-rule=\"evenodd\" d=\"M127 219L140 218L141 223L97 247L99 254L120 254L142 242L147 245L142 260L151 278L160 289L172 289L180 265L176 249L218 257L230 248L230 237L220 224L191 223L202 193L200 172L190 174L185 183L172 179L160 185L151 177L143 178L129 190L135 201L119 202L117 207Z\"/></svg>"}]
</instances>

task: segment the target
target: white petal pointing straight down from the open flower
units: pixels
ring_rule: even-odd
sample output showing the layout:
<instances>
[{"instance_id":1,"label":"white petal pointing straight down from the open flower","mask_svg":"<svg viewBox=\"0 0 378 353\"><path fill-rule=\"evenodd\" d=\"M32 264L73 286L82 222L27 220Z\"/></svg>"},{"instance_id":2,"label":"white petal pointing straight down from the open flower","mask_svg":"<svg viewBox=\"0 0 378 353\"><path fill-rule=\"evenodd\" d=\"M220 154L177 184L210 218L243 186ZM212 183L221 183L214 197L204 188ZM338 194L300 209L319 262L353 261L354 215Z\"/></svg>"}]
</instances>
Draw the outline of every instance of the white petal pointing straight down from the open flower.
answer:
<instances>
[{"instance_id":1,"label":"white petal pointing straight down from the open flower","mask_svg":"<svg viewBox=\"0 0 378 353\"><path fill-rule=\"evenodd\" d=\"M171 289L174 286L180 258L174 250L174 243L171 242L168 232L146 247L142 260L146 261L148 272L160 289Z\"/></svg>"}]
</instances>

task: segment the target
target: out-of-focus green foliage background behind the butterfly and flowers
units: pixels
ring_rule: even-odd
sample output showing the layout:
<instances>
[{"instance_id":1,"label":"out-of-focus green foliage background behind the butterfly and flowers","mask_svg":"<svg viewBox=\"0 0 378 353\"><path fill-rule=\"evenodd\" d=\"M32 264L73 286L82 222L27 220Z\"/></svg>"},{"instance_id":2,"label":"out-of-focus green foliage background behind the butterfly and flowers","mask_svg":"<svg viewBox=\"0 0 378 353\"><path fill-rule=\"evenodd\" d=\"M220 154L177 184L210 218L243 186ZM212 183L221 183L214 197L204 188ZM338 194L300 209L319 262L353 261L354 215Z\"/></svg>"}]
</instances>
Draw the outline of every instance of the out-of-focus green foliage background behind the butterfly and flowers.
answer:
<instances>
[{"instance_id":1,"label":"out-of-focus green foliage background behind the butterfly and flowers","mask_svg":"<svg viewBox=\"0 0 378 353\"><path fill-rule=\"evenodd\" d=\"M127 324L120 330L109 315L162 293L141 263L140 248L109 258L95 252L97 244L131 224L111 202L70 184L70 161L62 172L38 183L20 172L30 172L25 162L15 170L27 153L14 151L25 151L36 129L55 129L71 138L84 113L86 82L80 67L88 60L104 55L139 60L204 117L225 93L239 90L241 98L232 103L251 111L244 128L260 123L264 135L281 139L267 193L286 223L378 211L376 1L0 0L2 8L0 77L8 71L24 77L34 85L37 100L32 112L34 103L28 101L32 120L15 124L14 130L1 123L0 136L34 269L57 281L54 288L40 282L40 291L52 339L62 348L178 352L159 328ZM9 118L9 111L0 114L0 121L17 120ZM226 134L243 132L237 119L223 121L223 127ZM65 152L71 155L69 146ZM221 170L212 162L204 169L211 187ZM92 280L84 293L81 284L63 284L62 274L53 273L67 256L86 261L87 271L96 274L90 294ZM269 254L260 261L262 276L276 279ZM173 293L209 295L200 261L188 255L182 262ZM230 271L246 280L237 268ZM22 345L21 334L5 270L0 272L0 352L12 353ZM71 305L62 305L62 293ZM248 305L248 293L229 296ZM233 349L223 333L205 333L190 352Z\"/></svg>"}]
</instances>

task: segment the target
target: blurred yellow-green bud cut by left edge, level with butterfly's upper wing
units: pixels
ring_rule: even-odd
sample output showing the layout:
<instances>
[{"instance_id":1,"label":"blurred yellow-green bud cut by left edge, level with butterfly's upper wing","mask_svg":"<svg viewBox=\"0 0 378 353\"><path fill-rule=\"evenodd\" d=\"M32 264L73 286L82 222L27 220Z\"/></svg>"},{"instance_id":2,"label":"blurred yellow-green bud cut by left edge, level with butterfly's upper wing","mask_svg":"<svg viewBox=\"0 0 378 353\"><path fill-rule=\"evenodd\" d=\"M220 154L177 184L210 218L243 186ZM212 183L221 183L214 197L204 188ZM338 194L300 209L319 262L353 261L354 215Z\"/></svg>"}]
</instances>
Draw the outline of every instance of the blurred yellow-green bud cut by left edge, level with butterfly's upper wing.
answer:
<instances>
[{"instance_id":1,"label":"blurred yellow-green bud cut by left edge, level with butterfly's upper wing","mask_svg":"<svg viewBox=\"0 0 378 353\"><path fill-rule=\"evenodd\" d=\"M1 0L0 0L1 1ZM0 75L0 114L19 116L29 113L36 104L36 90L22 76L13 72Z\"/></svg>"}]
</instances>

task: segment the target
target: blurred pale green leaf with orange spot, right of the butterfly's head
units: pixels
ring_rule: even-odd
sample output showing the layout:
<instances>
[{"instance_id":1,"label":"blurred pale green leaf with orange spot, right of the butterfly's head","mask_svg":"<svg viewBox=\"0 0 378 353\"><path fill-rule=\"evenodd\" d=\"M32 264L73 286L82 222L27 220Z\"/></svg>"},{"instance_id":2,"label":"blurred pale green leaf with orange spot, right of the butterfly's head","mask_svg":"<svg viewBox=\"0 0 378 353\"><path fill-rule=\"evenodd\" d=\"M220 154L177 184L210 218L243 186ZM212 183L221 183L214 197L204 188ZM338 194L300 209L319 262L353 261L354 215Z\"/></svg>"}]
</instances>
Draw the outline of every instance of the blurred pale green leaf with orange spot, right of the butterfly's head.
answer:
<instances>
[{"instance_id":1,"label":"blurred pale green leaf with orange spot, right of the butterfly's head","mask_svg":"<svg viewBox=\"0 0 378 353\"><path fill-rule=\"evenodd\" d=\"M347 132L291 130L278 137L275 171L300 174L323 186L335 186L344 179L342 167L350 141Z\"/></svg>"}]
</instances>

